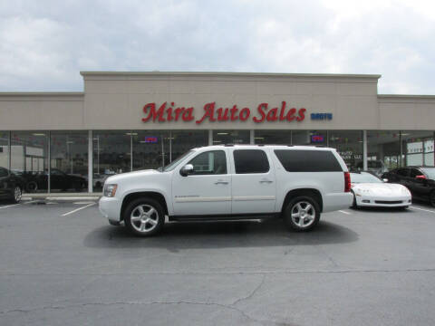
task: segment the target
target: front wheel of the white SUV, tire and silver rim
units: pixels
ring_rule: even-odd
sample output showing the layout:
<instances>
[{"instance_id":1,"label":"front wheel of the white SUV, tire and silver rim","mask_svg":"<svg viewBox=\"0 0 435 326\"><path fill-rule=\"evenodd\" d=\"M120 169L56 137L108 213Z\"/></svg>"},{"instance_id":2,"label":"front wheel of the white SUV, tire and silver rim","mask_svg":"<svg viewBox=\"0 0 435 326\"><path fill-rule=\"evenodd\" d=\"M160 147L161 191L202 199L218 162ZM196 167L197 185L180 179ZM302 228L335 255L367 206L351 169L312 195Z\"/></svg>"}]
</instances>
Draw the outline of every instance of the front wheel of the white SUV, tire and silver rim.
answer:
<instances>
[{"instance_id":1,"label":"front wheel of the white SUV, tire and silver rim","mask_svg":"<svg viewBox=\"0 0 435 326\"><path fill-rule=\"evenodd\" d=\"M122 215L125 226L133 235L157 235L165 224L163 208L157 200L149 197L133 200Z\"/></svg>"}]
</instances>

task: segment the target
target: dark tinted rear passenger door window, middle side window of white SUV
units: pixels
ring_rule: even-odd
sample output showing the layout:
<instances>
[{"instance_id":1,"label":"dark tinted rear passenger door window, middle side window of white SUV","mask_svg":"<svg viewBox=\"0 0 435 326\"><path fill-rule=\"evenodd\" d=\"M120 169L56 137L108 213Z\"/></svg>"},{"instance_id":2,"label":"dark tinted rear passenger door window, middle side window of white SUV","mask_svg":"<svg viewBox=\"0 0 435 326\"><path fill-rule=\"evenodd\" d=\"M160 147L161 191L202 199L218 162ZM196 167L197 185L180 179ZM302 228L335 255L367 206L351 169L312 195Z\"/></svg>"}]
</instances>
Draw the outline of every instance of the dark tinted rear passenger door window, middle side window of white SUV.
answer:
<instances>
[{"instance_id":1,"label":"dark tinted rear passenger door window, middle side window of white SUV","mask_svg":"<svg viewBox=\"0 0 435 326\"><path fill-rule=\"evenodd\" d=\"M266 173L269 160L261 149L236 149L233 152L237 174Z\"/></svg>"}]
</instances>

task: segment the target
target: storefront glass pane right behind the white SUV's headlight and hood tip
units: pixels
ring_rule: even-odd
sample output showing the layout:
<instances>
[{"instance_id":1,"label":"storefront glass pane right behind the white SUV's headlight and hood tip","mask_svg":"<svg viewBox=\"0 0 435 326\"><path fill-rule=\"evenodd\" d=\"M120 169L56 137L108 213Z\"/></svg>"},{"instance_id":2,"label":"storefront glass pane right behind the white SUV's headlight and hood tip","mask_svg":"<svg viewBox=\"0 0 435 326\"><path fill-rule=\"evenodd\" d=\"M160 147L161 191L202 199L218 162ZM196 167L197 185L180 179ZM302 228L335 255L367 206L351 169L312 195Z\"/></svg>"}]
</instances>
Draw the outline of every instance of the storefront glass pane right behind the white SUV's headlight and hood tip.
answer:
<instances>
[{"instance_id":1,"label":"storefront glass pane right behind the white SUV's headlight and hood tip","mask_svg":"<svg viewBox=\"0 0 435 326\"><path fill-rule=\"evenodd\" d=\"M107 177L131 170L131 131L93 131L93 190Z\"/></svg>"}]
</instances>

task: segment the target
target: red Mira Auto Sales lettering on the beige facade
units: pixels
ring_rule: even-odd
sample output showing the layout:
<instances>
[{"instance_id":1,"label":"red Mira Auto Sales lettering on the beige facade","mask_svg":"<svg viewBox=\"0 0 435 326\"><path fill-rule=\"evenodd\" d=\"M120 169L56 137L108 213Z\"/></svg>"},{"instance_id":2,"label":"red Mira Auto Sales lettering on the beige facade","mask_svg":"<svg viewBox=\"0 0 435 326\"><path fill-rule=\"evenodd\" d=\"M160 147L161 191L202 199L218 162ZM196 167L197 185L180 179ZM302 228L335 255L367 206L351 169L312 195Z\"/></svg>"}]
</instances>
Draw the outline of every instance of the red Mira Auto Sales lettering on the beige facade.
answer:
<instances>
[{"instance_id":1,"label":"red Mira Auto Sales lettering on the beige facade","mask_svg":"<svg viewBox=\"0 0 435 326\"><path fill-rule=\"evenodd\" d=\"M194 107L179 107L175 102L164 102L160 105L152 102L143 107L143 122L164 122L164 121L193 121L200 124L207 120L214 121L246 121L253 120L256 123L264 121L303 121L305 119L304 108L287 107L285 101L279 106L272 106L269 103L260 103L251 110L244 107L239 108L237 104L229 108L218 107L216 102L204 104L199 117L194 115Z\"/></svg>"}]
</instances>

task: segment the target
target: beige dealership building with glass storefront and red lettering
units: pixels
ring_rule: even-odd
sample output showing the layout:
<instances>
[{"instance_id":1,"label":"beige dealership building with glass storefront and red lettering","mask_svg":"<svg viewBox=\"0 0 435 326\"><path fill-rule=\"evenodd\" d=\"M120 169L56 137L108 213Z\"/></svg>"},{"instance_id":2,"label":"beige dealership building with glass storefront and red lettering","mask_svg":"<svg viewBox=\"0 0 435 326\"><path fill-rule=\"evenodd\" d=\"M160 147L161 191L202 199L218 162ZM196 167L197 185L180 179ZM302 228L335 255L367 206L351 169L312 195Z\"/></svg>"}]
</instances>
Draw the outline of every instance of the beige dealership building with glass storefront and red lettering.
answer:
<instances>
[{"instance_id":1,"label":"beige dealership building with glass storefront and red lettering","mask_svg":"<svg viewBox=\"0 0 435 326\"><path fill-rule=\"evenodd\" d=\"M435 96L378 94L380 75L81 74L82 92L0 93L0 168L28 193L101 192L221 144L327 146L377 173L434 166Z\"/></svg>"}]
</instances>

